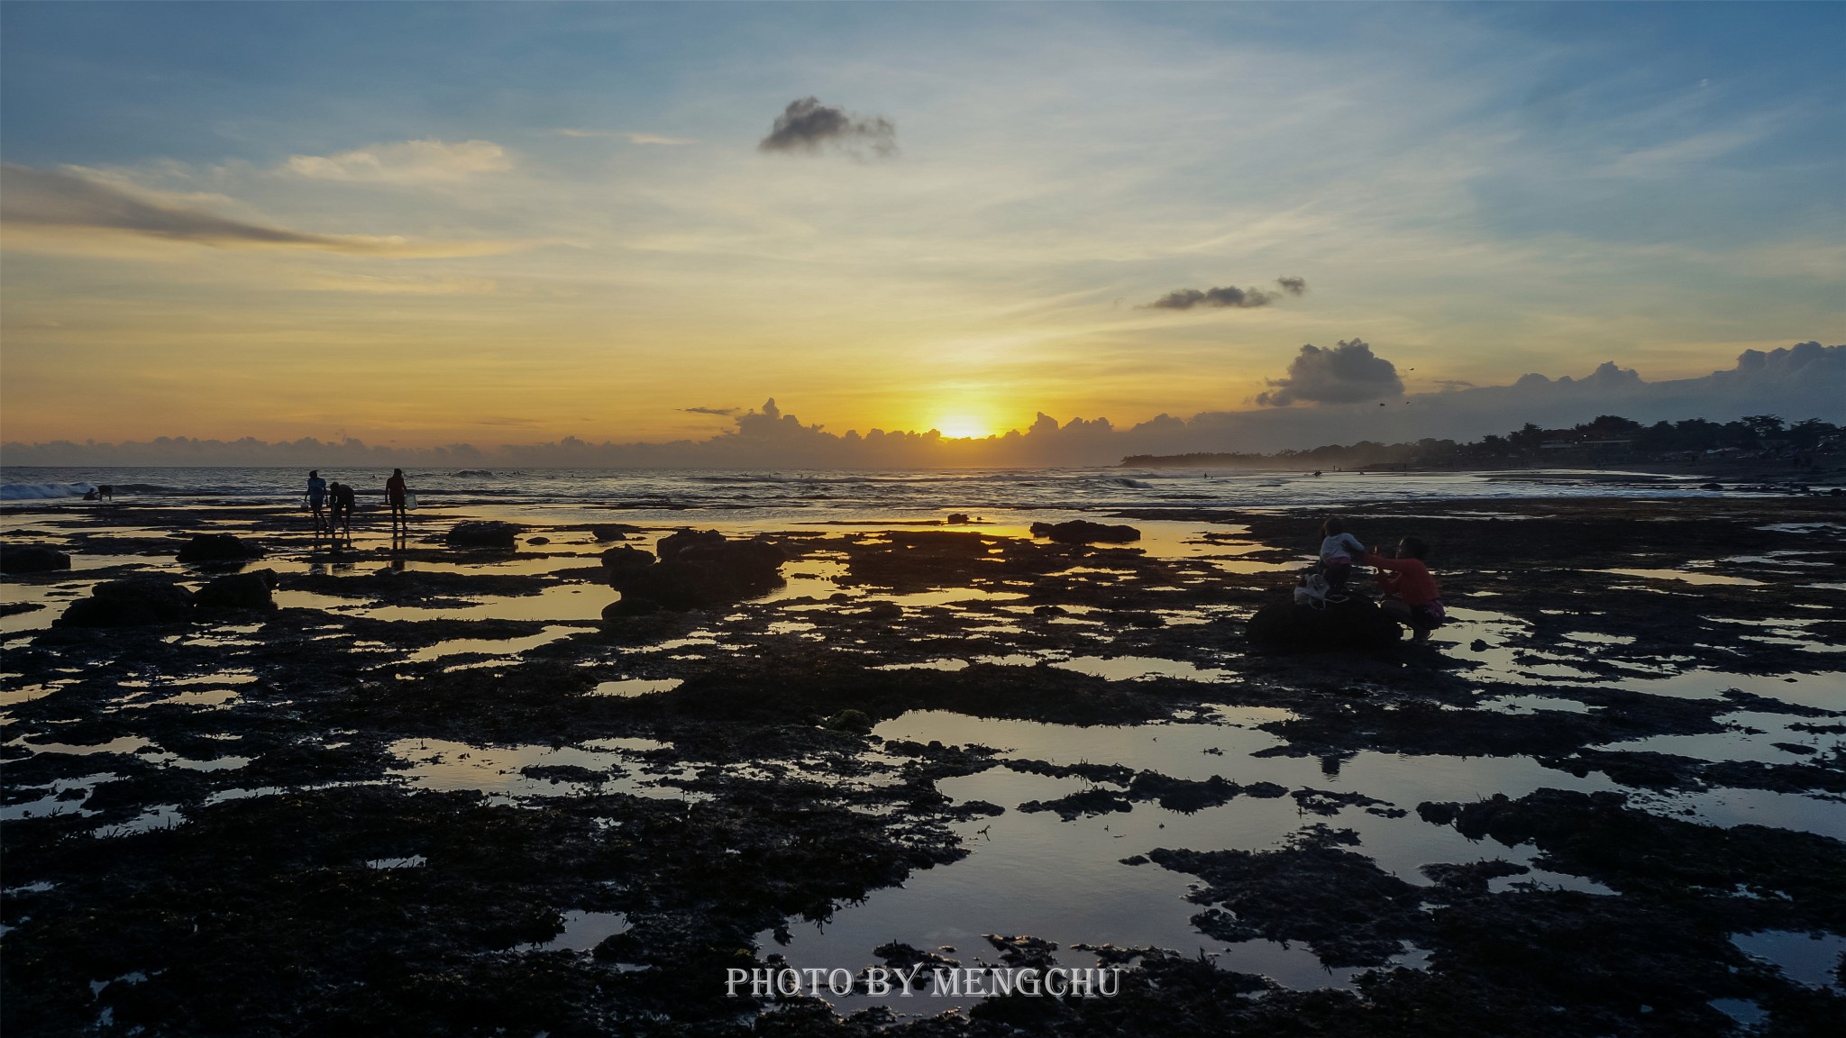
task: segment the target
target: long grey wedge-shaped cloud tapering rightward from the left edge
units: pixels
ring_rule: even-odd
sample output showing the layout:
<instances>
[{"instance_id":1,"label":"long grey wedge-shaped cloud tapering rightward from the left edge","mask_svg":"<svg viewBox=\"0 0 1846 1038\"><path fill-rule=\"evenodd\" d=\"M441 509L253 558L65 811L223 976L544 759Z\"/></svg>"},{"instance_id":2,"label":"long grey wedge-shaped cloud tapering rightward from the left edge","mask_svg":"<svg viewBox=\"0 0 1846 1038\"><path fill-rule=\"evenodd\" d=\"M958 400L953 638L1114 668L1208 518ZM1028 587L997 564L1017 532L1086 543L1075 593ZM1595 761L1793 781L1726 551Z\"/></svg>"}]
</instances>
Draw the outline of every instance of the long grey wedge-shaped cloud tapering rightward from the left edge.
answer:
<instances>
[{"instance_id":1,"label":"long grey wedge-shaped cloud tapering rightward from the left edge","mask_svg":"<svg viewBox=\"0 0 1846 1038\"><path fill-rule=\"evenodd\" d=\"M231 220L174 198L105 183L72 170L0 164L0 222L54 235L113 233L220 249L295 247L382 257L465 257L521 247L511 242L415 244L390 235L310 235ZM20 244L11 236L9 246Z\"/></svg>"}]
</instances>

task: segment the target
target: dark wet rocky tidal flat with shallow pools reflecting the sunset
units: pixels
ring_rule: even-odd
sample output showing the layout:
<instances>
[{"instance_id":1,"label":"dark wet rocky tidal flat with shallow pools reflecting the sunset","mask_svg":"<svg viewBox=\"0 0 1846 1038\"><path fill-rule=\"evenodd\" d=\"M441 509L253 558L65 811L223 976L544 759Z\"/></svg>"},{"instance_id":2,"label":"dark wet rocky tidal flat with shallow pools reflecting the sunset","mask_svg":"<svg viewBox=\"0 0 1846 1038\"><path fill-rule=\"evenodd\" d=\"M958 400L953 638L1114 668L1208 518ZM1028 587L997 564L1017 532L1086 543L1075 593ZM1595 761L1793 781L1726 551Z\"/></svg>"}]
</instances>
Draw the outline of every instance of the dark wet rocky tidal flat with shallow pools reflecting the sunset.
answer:
<instances>
[{"instance_id":1,"label":"dark wet rocky tidal flat with shallow pools reflecting the sunset","mask_svg":"<svg viewBox=\"0 0 1846 1038\"><path fill-rule=\"evenodd\" d=\"M722 515L722 513L720 513ZM1722 1034L1846 1014L1846 502L1355 504L1427 646L1255 652L1305 515L940 526L22 504L9 1034ZM611 523L622 513L613 512ZM766 595L613 615L676 528ZM179 563L194 534L262 545ZM543 537L545 543L535 543ZM90 587L275 608L54 626ZM620 610L613 610L620 611ZM1126 966L1115 997L727 997L737 968ZM831 1005L829 1005L831 1003ZM943 1012L949 1016L938 1016ZM755 1029L755 1031L753 1031Z\"/></svg>"}]
</instances>

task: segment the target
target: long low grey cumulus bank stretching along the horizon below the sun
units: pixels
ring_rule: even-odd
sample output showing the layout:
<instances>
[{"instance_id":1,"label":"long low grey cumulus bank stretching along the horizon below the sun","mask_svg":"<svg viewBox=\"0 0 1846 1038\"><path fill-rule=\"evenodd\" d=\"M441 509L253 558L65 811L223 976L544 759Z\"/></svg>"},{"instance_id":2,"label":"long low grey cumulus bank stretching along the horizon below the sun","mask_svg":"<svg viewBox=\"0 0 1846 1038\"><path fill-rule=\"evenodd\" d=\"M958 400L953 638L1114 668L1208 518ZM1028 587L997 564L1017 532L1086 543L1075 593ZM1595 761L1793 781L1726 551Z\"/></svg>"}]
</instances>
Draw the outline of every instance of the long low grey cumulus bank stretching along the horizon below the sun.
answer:
<instances>
[{"instance_id":1,"label":"long low grey cumulus bank stretching along the horizon below the sun","mask_svg":"<svg viewBox=\"0 0 1846 1038\"><path fill-rule=\"evenodd\" d=\"M1351 347L1351 344L1346 344ZM1335 353L1320 351L1320 353ZM1735 366L1698 379L1650 382L1613 362L1586 377L1527 375L1506 386L1447 388L1416 393L1408 406L1287 408L1204 412L1189 419L1161 414L1132 427L1106 417L1058 419L1039 414L1025 430L984 440L940 432L827 432L783 412L775 401L731 417L731 428L703 440L668 443L591 443L567 436L550 443L476 447L373 447L358 440L161 438L146 443L6 443L9 465L454 465L485 460L587 467L930 467L930 465L1109 465L1130 454L1200 451L1268 453L1324 443L1414 441L1425 436L1473 440L1532 421L1569 427L1602 414L1643 423L1708 417L1733 421L1778 414L1789 421L1846 421L1846 345L1804 342L1737 356Z\"/></svg>"}]
</instances>

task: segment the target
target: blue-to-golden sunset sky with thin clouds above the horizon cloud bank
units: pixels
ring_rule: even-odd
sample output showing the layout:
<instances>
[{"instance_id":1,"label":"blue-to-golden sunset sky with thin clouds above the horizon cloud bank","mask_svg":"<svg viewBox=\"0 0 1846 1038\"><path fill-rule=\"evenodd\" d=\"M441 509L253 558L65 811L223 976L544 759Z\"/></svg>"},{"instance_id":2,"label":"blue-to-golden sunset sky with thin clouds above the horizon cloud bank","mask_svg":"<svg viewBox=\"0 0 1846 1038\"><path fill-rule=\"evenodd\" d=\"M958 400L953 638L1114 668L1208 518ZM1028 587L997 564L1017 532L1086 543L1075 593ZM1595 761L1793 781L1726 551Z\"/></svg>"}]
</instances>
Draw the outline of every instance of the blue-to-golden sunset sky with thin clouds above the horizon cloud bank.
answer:
<instances>
[{"instance_id":1,"label":"blue-to-golden sunset sky with thin clouds above the horizon cloud bank","mask_svg":"<svg viewBox=\"0 0 1846 1038\"><path fill-rule=\"evenodd\" d=\"M775 397L1272 449L1610 362L1735 417L1767 390L1713 371L1846 342L1842 44L1840 4L7 2L0 438Z\"/></svg>"}]
</instances>

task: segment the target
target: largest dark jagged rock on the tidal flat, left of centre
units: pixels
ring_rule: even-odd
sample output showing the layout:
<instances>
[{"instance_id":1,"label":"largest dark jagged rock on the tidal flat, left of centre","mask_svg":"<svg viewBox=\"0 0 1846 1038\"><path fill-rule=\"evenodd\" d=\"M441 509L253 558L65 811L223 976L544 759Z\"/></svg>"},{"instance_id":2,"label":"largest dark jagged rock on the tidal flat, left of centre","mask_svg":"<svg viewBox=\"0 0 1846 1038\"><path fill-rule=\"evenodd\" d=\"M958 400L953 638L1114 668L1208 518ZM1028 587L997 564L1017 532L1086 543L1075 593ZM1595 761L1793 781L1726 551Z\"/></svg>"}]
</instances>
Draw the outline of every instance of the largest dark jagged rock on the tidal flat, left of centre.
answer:
<instances>
[{"instance_id":1,"label":"largest dark jagged rock on the tidal flat, left of centre","mask_svg":"<svg viewBox=\"0 0 1846 1038\"><path fill-rule=\"evenodd\" d=\"M762 595L781 585L779 571L788 558L768 541L731 541L716 530L681 530L655 547L653 565L639 565L646 552L637 549L605 552L605 560L611 554L618 560L609 567L609 584L622 591L622 600L604 610L605 617L703 610Z\"/></svg>"}]
</instances>

